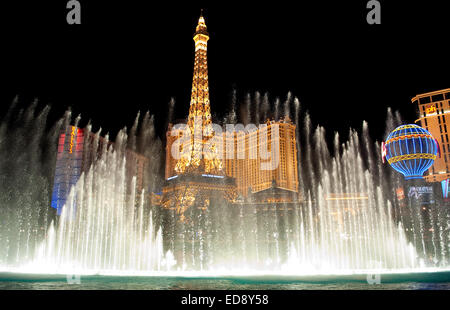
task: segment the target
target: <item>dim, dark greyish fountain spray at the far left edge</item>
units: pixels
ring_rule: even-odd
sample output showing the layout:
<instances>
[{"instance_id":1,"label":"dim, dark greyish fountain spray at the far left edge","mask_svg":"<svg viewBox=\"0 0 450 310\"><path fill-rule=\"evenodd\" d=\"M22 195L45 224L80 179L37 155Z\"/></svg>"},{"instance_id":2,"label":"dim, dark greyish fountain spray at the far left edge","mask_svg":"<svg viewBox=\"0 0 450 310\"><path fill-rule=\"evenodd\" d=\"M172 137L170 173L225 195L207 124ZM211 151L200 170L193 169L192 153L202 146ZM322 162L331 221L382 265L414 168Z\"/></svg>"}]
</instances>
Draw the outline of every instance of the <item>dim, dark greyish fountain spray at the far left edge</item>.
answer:
<instances>
[{"instance_id":1,"label":"dim, dark greyish fountain spray at the far left edge","mask_svg":"<svg viewBox=\"0 0 450 310\"><path fill-rule=\"evenodd\" d=\"M0 265L17 265L33 257L46 234L48 200L59 130L68 111L53 126L50 108L34 101L19 109L18 98L0 124Z\"/></svg>"}]
</instances>

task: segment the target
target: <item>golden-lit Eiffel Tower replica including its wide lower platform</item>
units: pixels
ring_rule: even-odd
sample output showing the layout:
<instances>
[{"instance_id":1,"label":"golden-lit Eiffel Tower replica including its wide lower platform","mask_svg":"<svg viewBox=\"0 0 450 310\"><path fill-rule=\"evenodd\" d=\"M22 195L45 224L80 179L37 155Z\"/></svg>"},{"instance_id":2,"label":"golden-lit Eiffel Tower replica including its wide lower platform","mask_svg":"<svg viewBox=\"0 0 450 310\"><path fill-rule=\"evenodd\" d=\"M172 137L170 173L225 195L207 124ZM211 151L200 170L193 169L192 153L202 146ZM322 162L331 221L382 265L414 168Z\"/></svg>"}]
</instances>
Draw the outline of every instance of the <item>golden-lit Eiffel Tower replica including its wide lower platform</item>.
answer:
<instances>
[{"instance_id":1,"label":"golden-lit Eiffel Tower replica including its wide lower platform","mask_svg":"<svg viewBox=\"0 0 450 310\"><path fill-rule=\"evenodd\" d=\"M208 40L201 14L194 33L195 62L189 116L186 127L178 131L184 137L184 143L179 147L177 175L165 180L161 199L161 205L174 209L182 222L191 220L186 215L189 208L206 210L212 201L226 203L237 197L235 179L225 175L223 161L218 156L223 147L223 136L214 136L211 122Z\"/></svg>"}]
</instances>

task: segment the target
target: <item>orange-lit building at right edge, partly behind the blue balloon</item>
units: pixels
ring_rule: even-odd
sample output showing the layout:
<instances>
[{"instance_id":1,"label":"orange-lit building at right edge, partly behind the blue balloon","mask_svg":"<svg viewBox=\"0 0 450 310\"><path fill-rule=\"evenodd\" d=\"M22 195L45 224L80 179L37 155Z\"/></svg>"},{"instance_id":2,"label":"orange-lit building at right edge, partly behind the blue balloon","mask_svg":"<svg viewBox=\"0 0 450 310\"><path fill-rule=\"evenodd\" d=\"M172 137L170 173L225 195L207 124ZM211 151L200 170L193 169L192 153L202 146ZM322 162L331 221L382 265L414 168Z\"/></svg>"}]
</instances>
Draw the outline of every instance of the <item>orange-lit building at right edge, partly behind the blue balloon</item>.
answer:
<instances>
[{"instance_id":1,"label":"orange-lit building at right edge, partly behind the blue balloon","mask_svg":"<svg viewBox=\"0 0 450 310\"><path fill-rule=\"evenodd\" d=\"M450 88L416 95L411 99L419 110L420 126L427 129L439 144L440 155L424 176L428 182L450 178ZM450 128L449 128L450 129Z\"/></svg>"}]
</instances>

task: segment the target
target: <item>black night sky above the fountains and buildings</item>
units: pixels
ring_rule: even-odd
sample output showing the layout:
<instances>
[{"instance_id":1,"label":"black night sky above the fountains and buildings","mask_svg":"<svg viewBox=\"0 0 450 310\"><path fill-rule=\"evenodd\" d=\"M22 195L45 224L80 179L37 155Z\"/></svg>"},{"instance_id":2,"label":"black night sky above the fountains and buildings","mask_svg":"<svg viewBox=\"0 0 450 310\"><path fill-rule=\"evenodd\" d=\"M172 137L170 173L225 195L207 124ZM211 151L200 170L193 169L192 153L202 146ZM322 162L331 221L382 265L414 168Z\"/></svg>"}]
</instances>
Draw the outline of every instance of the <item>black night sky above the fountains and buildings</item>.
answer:
<instances>
[{"instance_id":1,"label":"black night sky above the fountains and buildings","mask_svg":"<svg viewBox=\"0 0 450 310\"><path fill-rule=\"evenodd\" d=\"M2 4L1 113L15 95L24 105L38 98L55 119L71 106L115 133L150 110L163 132L171 97L176 117L188 113L201 7L218 116L233 87L240 99L292 91L328 132L367 120L382 139L388 106L413 122L411 97L450 87L444 1L380 1L381 25L366 23L366 0L153 2L81 0L81 25L66 24L64 0Z\"/></svg>"}]
</instances>

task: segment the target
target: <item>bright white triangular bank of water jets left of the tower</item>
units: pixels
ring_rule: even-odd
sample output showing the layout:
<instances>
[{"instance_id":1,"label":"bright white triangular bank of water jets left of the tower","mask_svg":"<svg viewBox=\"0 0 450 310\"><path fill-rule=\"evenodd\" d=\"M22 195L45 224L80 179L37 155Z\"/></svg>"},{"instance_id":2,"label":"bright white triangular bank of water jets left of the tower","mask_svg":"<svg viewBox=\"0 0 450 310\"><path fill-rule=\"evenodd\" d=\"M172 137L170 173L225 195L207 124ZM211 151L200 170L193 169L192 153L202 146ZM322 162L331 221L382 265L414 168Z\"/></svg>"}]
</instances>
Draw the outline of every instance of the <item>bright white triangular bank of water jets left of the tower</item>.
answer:
<instances>
[{"instance_id":1,"label":"bright white triangular bank of water jets left of the tower","mask_svg":"<svg viewBox=\"0 0 450 310\"><path fill-rule=\"evenodd\" d=\"M120 131L113 146L107 136L92 138L90 143L98 145L92 151L99 157L71 188L61 216L26 268L97 273L160 270L162 235L144 203L146 190L137 191L136 175L127 167L135 164L129 162L133 154L127 149L128 136Z\"/></svg>"}]
</instances>

